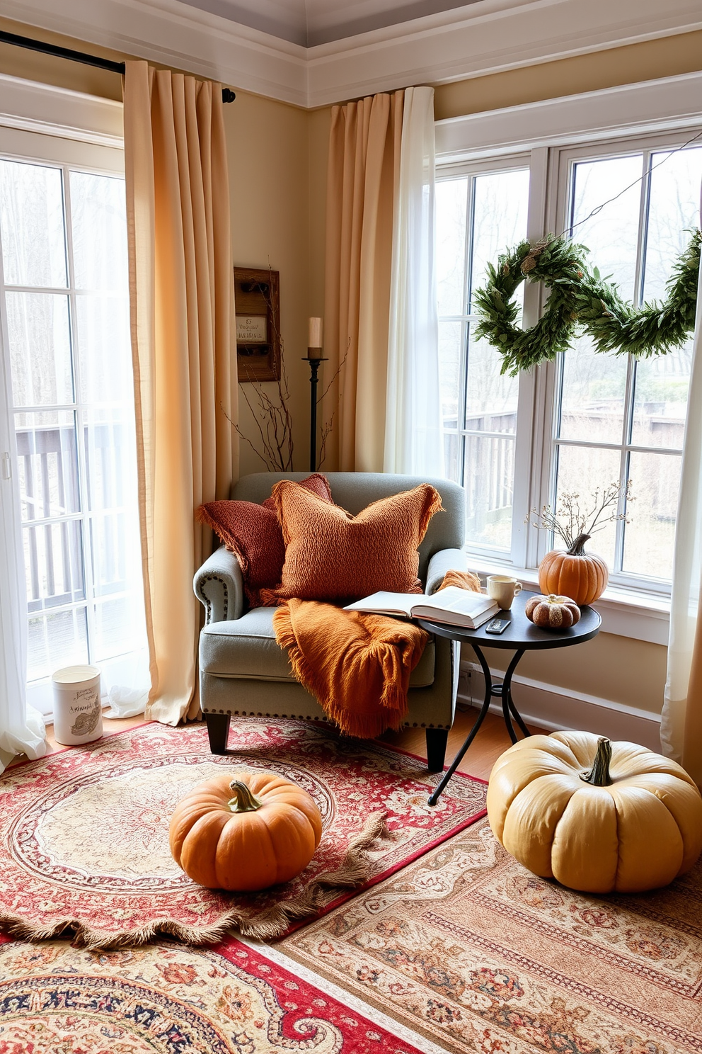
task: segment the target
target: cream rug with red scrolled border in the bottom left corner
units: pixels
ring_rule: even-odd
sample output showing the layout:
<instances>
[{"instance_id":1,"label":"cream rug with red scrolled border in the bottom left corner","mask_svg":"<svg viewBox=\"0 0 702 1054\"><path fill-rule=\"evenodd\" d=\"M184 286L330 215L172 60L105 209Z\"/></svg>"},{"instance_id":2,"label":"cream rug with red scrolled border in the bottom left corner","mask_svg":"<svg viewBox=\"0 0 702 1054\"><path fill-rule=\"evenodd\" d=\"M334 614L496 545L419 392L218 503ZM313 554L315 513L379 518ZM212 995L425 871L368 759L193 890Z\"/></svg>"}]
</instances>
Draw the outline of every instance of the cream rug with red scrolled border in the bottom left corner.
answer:
<instances>
[{"instance_id":1,"label":"cream rug with red scrolled border in the bottom left corner","mask_svg":"<svg viewBox=\"0 0 702 1054\"><path fill-rule=\"evenodd\" d=\"M237 940L220 954L168 941L104 953L0 944L2 1054L420 1051Z\"/></svg>"}]
</instances>

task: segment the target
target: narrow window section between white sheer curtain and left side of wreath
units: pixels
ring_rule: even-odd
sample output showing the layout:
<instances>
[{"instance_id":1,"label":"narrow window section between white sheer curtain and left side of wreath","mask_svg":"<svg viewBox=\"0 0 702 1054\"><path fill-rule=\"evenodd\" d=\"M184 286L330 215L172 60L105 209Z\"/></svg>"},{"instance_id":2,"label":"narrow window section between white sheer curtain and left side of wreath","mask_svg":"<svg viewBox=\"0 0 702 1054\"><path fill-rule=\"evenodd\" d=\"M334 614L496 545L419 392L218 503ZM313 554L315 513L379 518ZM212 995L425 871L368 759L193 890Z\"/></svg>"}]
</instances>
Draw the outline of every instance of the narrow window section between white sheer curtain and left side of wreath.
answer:
<instances>
[{"instance_id":1,"label":"narrow window section between white sheer curtain and left side of wreath","mask_svg":"<svg viewBox=\"0 0 702 1054\"><path fill-rule=\"evenodd\" d=\"M466 488L466 541L512 548L519 382L476 340L473 291L488 261L526 236L529 170L461 173L437 183L439 356L444 462Z\"/></svg>"}]
</instances>

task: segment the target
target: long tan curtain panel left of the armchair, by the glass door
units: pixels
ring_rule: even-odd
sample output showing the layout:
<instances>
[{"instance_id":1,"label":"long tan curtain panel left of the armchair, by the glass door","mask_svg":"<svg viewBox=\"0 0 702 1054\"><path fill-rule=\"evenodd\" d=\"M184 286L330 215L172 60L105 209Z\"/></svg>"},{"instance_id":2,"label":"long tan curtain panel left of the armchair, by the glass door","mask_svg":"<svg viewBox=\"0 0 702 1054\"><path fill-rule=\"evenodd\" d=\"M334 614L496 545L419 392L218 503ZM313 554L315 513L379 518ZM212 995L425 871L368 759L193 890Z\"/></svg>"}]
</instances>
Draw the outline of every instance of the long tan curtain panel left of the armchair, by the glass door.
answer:
<instances>
[{"instance_id":1,"label":"long tan curtain panel left of the armchair, by the glass door","mask_svg":"<svg viewBox=\"0 0 702 1054\"><path fill-rule=\"evenodd\" d=\"M127 62L124 156L139 505L151 651L146 717L199 713L193 574L228 496L234 278L219 84Z\"/></svg>"}]
</instances>

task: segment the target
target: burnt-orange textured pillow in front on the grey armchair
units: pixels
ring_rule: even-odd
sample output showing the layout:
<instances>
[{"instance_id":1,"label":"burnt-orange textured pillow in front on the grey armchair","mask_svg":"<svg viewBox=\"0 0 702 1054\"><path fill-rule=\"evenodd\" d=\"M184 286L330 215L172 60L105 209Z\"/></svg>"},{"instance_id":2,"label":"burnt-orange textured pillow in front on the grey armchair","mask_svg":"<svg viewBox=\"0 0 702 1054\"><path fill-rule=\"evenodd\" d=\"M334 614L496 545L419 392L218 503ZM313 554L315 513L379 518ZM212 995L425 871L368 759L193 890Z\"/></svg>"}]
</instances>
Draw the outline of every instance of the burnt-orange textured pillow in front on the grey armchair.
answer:
<instances>
[{"instance_id":1,"label":"burnt-orange textured pillow in front on the grey armchair","mask_svg":"<svg viewBox=\"0 0 702 1054\"><path fill-rule=\"evenodd\" d=\"M281 585L273 601L349 601L379 589L421 592L420 544L441 496L428 484L374 502L353 516L287 480L272 499L285 541Z\"/></svg>"}]
</instances>

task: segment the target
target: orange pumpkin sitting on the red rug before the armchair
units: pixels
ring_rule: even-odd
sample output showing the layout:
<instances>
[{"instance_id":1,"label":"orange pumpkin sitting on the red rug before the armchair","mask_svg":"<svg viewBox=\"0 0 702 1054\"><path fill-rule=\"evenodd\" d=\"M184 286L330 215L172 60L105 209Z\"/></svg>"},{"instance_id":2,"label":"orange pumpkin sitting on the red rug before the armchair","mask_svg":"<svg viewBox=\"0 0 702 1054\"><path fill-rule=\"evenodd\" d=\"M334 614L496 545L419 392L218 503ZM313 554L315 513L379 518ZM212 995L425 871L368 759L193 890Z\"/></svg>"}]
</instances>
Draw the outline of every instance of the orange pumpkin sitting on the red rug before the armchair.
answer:
<instances>
[{"instance_id":1,"label":"orange pumpkin sitting on the red rug before the armchair","mask_svg":"<svg viewBox=\"0 0 702 1054\"><path fill-rule=\"evenodd\" d=\"M252 892L304 871L322 837L306 790L277 773L217 776L182 798L171 820L171 853L210 890Z\"/></svg>"}]
</instances>

